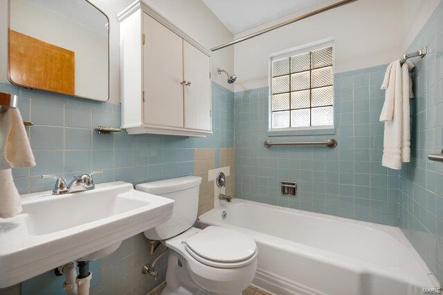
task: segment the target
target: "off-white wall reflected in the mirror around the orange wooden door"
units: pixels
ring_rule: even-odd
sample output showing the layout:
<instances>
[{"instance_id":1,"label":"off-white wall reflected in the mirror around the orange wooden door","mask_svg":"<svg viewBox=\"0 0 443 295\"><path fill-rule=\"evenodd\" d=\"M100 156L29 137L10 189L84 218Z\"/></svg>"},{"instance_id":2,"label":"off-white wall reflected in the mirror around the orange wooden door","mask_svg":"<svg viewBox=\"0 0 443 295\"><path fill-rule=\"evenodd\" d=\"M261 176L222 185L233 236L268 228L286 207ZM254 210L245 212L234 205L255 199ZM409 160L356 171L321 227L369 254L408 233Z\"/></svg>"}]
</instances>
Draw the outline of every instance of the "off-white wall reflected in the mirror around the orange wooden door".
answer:
<instances>
[{"instance_id":1,"label":"off-white wall reflected in the mirror around the orange wooden door","mask_svg":"<svg viewBox=\"0 0 443 295\"><path fill-rule=\"evenodd\" d=\"M10 3L12 30L75 53L75 95L102 101L108 99L106 17L102 17L103 35L28 0Z\"/></svg>"}]
</instances>

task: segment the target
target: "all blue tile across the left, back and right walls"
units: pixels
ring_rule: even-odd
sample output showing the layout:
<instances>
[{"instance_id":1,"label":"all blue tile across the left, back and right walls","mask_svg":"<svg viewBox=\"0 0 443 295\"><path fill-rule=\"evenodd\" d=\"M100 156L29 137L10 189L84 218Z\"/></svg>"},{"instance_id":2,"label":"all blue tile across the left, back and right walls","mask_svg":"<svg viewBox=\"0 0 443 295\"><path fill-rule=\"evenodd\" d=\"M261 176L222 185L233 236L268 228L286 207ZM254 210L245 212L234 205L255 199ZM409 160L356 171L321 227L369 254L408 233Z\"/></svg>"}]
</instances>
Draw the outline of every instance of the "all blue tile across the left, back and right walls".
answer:
<instances>
[{"instance_id":1,"label":"all blue tile across the left, back and right walls","mask_svg":"<svg viewBox=\"0 0 443 295\"><path fill-rule=\"evenodd\" d=\"M37 166L14 169L15 184L20 193L42 191L53 187L52 180L40 178L42 174L69 180L97 169L105 173L96 175L96 182L172 178L193 173L194 149L215 148L215 166L219 166L218 149L234 146L236 197L399 226L443 282L443 164L426 158L443 149L442 28L440 2L407 50L426 45L429 51L423 59L413 60L416 99L411 101L411 162L400 172L381 166L383 123L379 113L384 91L380 86L386 68L381 65L334 76L334 135L268 137L268 88L234 94L215 82L214 133L206 138L128 135L125 131L98 135L93 130L96 126L120 126L119 104L0 83L0 91L19 95L22 117L35 124L26 130ZM336 149L263 146L265 140L329 137L338 140ZM280 180L298 182L297 198L280 195ZM141 262L148 259L144 255L143 236L126 240L116 254L99 265L96 289L102 294L112 292L109 286L131 291ZM129 265L127 271L111 265L120 262ZM31 283L47 278L44 274ZM141 281L146 283L145 278ZM146 291L146 286L141 289Z\"/></svg>"}]
</instances>

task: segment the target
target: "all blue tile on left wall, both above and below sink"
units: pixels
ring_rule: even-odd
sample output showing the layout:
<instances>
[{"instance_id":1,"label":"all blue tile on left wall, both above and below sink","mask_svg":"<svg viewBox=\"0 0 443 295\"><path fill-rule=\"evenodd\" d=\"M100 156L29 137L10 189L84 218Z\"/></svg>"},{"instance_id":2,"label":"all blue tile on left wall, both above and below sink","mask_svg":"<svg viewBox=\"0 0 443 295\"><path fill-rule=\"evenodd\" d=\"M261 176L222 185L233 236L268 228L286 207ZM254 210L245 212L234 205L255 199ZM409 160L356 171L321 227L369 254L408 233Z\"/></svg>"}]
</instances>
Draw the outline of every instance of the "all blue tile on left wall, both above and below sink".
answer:
<instances>
[{"instance_id":1,"label":"all blue tile on left wall, both above and below sink","mask_svg":"<svg viewBox=\"0 0 443 295\"><path fill-rule=\"evenodd\" d=\"M55 174L71 180L78 173L104 169L97 183L123 180L145 182L194 173L194 150L234 146L234 94L212 83L213 134L208 137L128 135L125 131L99 135L96 126L120 126L120 104L94 102L0 83L0 91L19 95L19 110L37 166L13 169L20 193L53 188ZM218 158L216 159L218 160ZM141 275L141 267L154 259L143 234L123 241L120 248L96 263L91 294L147 294L158 285ZM159 264L159 282L165 280L166 261ZM99 283L100 281L100 283ZM60 278L46 272L22 284L21 294L64 294ZM2 290L0 290L2 293Z\"/></svg>"}]
</instances>

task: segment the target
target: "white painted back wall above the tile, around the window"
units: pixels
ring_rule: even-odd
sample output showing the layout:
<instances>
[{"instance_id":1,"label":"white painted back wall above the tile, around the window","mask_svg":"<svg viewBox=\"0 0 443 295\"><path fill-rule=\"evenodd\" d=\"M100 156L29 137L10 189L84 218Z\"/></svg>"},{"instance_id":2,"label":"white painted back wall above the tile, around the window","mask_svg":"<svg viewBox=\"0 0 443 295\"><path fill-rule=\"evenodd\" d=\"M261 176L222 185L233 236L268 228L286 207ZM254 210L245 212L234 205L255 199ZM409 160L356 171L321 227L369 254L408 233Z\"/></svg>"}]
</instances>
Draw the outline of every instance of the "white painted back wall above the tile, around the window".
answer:
<instances>
[{"instance_id":1,"label":"white painted back wall above the tile, around the window","mask_svg":"<svg viewBox=\"0 0 443 295\"><path fill-rule=\"evenodd\" d=\"M268 85L268 62L272 53L329 37L335 39L336 73L392 61L399 56L398 1L359 0L235 45L234 64L238 77L235 91ZM235 37L296 15L247 30Z\"/></svg>"}]
</instances>

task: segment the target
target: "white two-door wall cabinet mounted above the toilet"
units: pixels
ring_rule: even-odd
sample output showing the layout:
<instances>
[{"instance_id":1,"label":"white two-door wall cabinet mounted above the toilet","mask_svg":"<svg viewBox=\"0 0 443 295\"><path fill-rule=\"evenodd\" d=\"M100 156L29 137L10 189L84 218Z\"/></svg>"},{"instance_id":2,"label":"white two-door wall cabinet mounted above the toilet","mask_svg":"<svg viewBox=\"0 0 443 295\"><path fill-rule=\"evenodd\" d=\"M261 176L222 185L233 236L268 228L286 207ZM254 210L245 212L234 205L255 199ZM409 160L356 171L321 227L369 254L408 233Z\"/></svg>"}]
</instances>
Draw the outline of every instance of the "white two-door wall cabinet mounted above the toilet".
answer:
<instances>
[{"instance_id":1,"label":"white two-door wall cabinet mounted above the toilet","mask_svg":"<svg viewBox=\"0 0 443 295\"><path fill-rule=\"evenodd\" d=\"M137 1L118 15L122 128L212 133L210 50Z\"/></svg>"}]
</instances>

